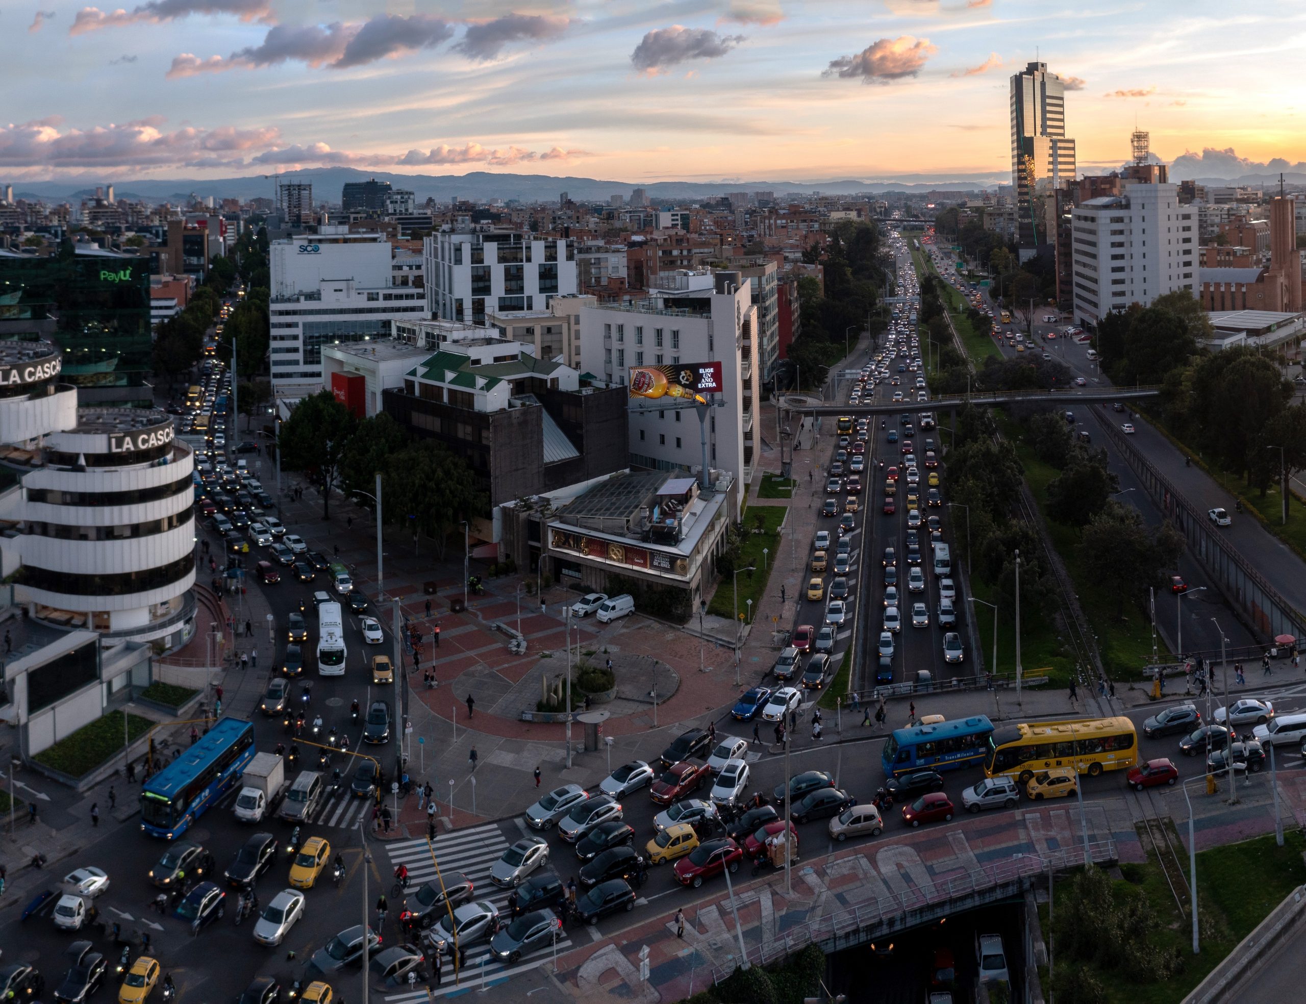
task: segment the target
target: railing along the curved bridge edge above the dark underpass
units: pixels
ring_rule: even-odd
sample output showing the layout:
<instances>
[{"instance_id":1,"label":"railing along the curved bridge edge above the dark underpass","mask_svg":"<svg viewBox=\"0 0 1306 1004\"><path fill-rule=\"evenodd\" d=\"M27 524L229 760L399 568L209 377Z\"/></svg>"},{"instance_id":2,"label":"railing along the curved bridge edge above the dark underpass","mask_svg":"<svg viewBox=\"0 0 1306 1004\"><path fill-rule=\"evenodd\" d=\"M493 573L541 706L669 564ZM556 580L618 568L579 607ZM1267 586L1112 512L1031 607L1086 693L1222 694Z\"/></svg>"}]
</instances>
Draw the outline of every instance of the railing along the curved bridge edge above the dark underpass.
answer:
<instances>
[{"instance_id":1,"label":"railing along the curved bridge edge above the dark underpass","mask_svg":"<svg viewBox=\"0 0 1306 1004\"><path fill-rule=\"evenodd\" d=\"M1094 863L1115 862L1115 841L1089 843L1088 855ZM764 944L751 945L744 954L750 965L763 966L782 961L810 944L820 945L825 952L853 948L884 933L918 927L956 910L1004 900L1024 892L1049 871L1057 872L1081 864L1084 864L1081 845L1046 858L1033 854L1007 858L956 879L917 886L896 896L825 914ZM713 984L726 979L741 962L742 960L735 960L733 964L713 966Z\"/></svg>"}]
</instances>

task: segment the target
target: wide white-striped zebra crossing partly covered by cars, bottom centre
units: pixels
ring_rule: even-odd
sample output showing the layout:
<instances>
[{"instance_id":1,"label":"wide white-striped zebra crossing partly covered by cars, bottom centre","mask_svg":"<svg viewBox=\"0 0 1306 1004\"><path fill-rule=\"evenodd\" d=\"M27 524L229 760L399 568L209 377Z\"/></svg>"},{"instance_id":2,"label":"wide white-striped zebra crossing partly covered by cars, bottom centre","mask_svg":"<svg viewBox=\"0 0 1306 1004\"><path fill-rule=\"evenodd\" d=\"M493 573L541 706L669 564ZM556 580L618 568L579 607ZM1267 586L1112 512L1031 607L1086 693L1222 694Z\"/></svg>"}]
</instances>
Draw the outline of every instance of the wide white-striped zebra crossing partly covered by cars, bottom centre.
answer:
<instances>
[{"instance_id":1,"label":"wide white-striped zebra crossing partly covered by cars, bottom centre","mask_svg":"<svg viewBox=\"0 0 1306 1004\"><path fill-rule=\"evenodd\" d=\"M362 800L362 799L360 799ZM436 862L440 873L449 877L452 873L466 875L475 885L473 898L478 902L491 902L499 909L503 922L511 918L508 909L508 890L500 889L490 881L490 868L508 849L509 841L503 830L494 824L473 826L464 830L453 830L436 837L428 846L424 839L396 841L385 845L385 853L390 859L390 872L400 864L407 866L409 879L413 889L423 883L435 879ZM432 860L434 847L434 860ZM549 866L546 866L549 867ZM565 931L558 940L558 950L571 947L571 939ZM468 964L461 974L461 986L454 986L452 970L448 964L444 967L444 982L431 991L432 996L449 996L465 992L469 987L479 987L482 980L488 986L502 983L516 973L525 973L543 965L552 957L552 947L542 948L529 953L520 962L508 966L495 961L490 956L490 943L481 941L468 949ZM427 997L427 991L414 991L407 994L390 994L385 997L385 1004L410 1004Z\"/></svg>"}]
</instances>

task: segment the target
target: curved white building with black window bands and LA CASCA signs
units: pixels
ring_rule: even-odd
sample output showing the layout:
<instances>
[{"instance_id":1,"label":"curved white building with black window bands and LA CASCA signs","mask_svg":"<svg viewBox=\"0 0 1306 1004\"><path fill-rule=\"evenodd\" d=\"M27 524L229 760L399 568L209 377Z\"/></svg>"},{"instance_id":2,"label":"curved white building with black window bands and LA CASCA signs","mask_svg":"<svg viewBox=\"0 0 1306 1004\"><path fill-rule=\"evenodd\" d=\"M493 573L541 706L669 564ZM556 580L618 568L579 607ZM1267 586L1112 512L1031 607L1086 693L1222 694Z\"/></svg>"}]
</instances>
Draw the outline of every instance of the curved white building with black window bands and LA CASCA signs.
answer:
<instances>
[{"instance_id":1,"label":"curved white building with black window bands and LA CASCA signs","mask_svg":"<svg viewBox=\"0 0 1306 1004\"><path fill-rule=\"evenodd\" d=\"M30 467L0 495L0 572L27 615L114 644L195 632L195 467L172 419L77 407L59 350L0 342L0 458Z\"/></svg>"}]
</instances>

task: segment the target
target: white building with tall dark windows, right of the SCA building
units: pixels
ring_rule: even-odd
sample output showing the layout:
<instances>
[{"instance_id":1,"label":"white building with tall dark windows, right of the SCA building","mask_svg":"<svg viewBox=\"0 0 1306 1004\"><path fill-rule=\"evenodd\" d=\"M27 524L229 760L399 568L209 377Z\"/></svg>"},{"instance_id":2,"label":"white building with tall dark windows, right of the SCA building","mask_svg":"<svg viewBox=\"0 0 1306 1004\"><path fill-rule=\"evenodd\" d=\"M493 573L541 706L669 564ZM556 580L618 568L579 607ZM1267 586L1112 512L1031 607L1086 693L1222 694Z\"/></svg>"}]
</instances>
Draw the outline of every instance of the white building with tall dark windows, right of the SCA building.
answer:
<instances>
[{"instance_id":1,"label":"white building with tall dark windows, right of the SCA building","mask_svg":"<svg viewBox=\"0 0 1306 1004\"><path fill-rule=\"evenodd\" d=\"M423 239L432 317L485 324L487 311L547 309L576 292L576 247L520 232L440 232Z\"/></svg>"}]
</instances>

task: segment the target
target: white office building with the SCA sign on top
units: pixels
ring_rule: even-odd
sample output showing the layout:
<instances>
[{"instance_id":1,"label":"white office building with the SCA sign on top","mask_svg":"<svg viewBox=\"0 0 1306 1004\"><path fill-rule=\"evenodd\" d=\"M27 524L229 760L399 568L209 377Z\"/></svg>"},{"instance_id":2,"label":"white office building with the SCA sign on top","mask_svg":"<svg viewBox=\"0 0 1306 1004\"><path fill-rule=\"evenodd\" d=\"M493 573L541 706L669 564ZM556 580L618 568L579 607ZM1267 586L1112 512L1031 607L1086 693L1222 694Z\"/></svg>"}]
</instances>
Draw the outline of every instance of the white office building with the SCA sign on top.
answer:
<instances>
[{"instance_id":1,"label":"white office building with the SCA sign on top","mask_svg":"<svg viewBox=\"0 0 1306 1004\"><path fill-rule=\"evenodd\" d=\"M324 345L388 338L394 320L427 316L413 268L396 268L380 234L323 226L269 245L272 388L277 397L313 393ZM415 265L415 262L413 262Z\"/></svg>"}]
</instances>

